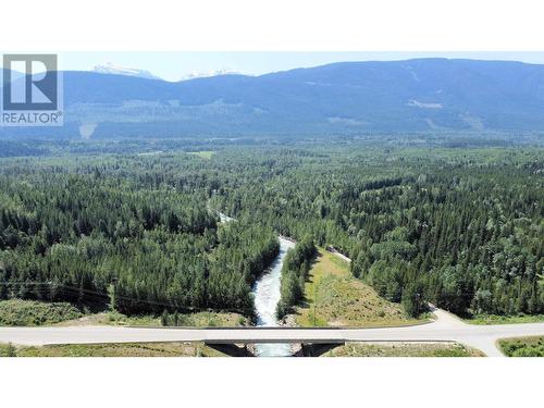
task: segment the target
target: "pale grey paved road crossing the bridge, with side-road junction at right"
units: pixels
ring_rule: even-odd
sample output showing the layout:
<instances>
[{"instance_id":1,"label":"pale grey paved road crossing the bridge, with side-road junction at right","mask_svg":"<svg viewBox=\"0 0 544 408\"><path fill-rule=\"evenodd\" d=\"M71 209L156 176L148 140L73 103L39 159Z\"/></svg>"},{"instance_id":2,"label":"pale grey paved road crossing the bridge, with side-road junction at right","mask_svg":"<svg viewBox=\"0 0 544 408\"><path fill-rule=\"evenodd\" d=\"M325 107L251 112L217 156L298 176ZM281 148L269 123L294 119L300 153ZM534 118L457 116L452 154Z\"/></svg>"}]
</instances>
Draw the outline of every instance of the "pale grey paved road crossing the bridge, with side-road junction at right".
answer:
<instances>
[{"instance_id":1,"label":"pale grey paved road crossing the bridge, with side-road junction at right","mask_svg":"<svg viewBox=\"0 0 544 408\"><path fill-rule=\"evenodd\" d=\"M435 310L436 321L381 329L145 329L116 326L0 327L0 343L20 345L207 342L207 343L344 343L344 342L459 342L487 356L502 356L496 341L544 335L544 323L471 325Z\"/></svg>"}]
</instances>

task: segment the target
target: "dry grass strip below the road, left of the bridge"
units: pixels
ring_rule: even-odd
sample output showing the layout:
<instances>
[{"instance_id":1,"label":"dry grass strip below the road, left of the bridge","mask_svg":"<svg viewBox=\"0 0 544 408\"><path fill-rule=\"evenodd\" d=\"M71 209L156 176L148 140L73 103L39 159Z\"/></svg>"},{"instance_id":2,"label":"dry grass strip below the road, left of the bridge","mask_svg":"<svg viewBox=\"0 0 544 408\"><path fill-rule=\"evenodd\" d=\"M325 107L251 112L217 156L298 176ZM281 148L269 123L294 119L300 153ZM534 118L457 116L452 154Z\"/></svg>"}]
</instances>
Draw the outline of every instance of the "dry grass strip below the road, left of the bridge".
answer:
<instances>
[{"instance_id":1,"label":"dry grass strip below the road, left of the bridge","mask_svg":"<svg viewBox=\"0 0 544 408\"><path fill-rule=\"evenodd\" d=\"M20 347L0 344L0 357L223 357L202 343L126 343Z\"/></svg>"}]
</instances>

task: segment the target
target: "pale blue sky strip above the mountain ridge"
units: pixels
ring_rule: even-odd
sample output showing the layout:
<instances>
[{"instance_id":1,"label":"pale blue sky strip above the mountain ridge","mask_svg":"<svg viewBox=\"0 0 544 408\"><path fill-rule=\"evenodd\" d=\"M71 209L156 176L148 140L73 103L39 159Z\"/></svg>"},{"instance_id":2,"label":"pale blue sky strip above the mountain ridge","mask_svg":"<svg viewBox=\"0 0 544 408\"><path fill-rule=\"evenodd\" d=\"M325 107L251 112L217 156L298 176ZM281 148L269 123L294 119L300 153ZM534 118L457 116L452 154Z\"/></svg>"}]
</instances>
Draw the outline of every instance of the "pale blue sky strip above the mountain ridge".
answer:
<instances>
[{"instance_id":1,"label":"pale blue sky strip above the mountain ridge","mask_svg":"<svg viewBox=\"0 0 544 408\"><path fill-rule=\"evenodd\" d=\"M469 58L544 64L544 52L63 52L62 70L88 71L108 62L180 81L190 73L230 70L248 75L339 61L391 61L410 58Z\"/></svg>"}]
</instances>

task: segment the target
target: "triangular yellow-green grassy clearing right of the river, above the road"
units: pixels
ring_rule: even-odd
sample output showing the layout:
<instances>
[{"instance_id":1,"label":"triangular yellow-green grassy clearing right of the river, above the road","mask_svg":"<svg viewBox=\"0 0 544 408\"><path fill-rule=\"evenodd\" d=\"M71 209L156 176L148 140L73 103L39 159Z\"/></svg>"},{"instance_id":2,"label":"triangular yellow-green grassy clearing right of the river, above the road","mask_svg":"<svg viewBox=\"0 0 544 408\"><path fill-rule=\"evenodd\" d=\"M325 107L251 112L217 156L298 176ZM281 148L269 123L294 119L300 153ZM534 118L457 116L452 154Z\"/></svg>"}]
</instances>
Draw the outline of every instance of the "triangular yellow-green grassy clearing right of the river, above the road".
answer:
<instances>
[{"instance_id":1,"label":"triangular yellow-green grassy clearing right of the river, above the road","mask_svg":"<svg viewBox=\"0 0 544 408\"><path fill-rule=\"evenodd\" d=\"M374 289L355 279L349 264L319 248L305 285L306 305L295 309L300 326L394 326L426 321L410 319L403 307L381 298Z\"/></svg>"}]
</instances>

